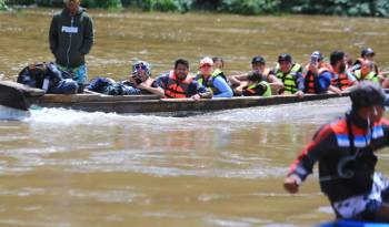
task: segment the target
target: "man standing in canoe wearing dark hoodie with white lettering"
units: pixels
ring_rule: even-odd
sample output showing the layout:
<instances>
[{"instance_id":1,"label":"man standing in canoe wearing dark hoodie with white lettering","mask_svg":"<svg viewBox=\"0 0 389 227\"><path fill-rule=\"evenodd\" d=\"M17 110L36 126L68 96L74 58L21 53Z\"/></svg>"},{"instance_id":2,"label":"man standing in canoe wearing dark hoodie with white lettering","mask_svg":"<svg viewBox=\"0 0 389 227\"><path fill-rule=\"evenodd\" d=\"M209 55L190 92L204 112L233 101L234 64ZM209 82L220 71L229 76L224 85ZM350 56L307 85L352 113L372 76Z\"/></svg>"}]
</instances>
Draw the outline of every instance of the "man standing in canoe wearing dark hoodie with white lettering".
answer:
<instances>
[{"instance_id":1,"label":"man standing in canoe wearing dark hoodie with white lettering","mask_svg":"<svg viewBox=\"0 0 389 227\"><path fill-rule=\"evenodd\" d=\"M64 0L66 8L53 16L49 41L57 65L72 75L82 92L88 81L86 54L93 45L93 23L81 0Z\"/></svg>"}]
</instances>

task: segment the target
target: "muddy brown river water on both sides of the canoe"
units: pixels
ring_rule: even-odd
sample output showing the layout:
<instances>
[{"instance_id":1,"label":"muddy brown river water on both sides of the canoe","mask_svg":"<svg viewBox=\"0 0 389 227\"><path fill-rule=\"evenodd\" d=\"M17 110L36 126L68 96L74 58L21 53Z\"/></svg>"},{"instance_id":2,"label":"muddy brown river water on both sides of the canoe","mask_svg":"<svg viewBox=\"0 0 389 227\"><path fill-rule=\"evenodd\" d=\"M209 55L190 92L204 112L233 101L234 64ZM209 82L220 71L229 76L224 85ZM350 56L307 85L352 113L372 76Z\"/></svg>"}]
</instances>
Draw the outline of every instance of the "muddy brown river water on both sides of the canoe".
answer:
<instances>
[{"instance_id":1,"label":"muddy brown river water on both sides of the canoe","mask_svg":"<svg viewBox=\"0 0 389 227\"><path fill-rule=\"evenodd\" d=\"M0 71L50 61L51 9L0 13ZM280 52L303 62L320 49L377 50L389 62L388 20L92 11L90 78L126 76L132 58L154 74L178 56L221 55L227 73L270 64ZM196 70L196 63L192 69ZM282 188L289 164L348 99L232 110L174 118L33 110L0 122L0 226L313 226L333 218L317 172L300 194ZM388 149L378 169L389 176Z\"/></svg>"}]
</instances>

